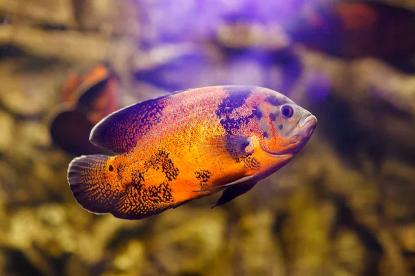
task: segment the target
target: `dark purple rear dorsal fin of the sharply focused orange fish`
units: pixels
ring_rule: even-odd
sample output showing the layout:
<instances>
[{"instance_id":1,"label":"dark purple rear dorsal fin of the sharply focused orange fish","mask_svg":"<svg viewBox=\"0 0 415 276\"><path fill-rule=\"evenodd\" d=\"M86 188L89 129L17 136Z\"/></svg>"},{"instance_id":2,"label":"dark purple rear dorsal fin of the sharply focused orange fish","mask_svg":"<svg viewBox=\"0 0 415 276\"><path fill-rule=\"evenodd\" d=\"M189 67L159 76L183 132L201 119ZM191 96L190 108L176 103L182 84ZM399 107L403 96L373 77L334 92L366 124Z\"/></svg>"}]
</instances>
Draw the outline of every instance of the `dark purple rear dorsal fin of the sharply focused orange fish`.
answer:
<instances>
[{"instance_id":1,"label":"dark purple rear dorsal fin of the sharply focused orange fish","mask_svg":"<svg viewBox=\"0 0 415 276\"><path fill-rule=\"evenodd\" d=\"M165 99L169 96L135 103L111 113L91 130L89 141L113 152L129 152L143 135L160 123Z\"/></svg>"}]
</instances>

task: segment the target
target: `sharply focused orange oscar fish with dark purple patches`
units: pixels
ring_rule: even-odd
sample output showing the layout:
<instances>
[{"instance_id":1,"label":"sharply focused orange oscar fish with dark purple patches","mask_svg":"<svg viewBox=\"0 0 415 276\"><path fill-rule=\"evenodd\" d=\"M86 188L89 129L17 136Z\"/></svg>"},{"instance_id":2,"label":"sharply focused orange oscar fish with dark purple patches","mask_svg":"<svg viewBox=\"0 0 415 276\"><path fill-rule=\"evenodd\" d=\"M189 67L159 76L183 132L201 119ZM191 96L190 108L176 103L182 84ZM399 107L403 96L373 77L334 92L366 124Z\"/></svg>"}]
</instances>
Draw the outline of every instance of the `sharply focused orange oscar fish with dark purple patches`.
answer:
<instances>
[{"instance_id":1,"label":"sharply focused orange oscar fish with dark purple patches","mask_svg":"<svg viewBox=\"0 0 415 276\"><path fill-rule=\"evenodd\" d=\"M73 159L68 183L84 209L122 219L223 190L213 207L220 206L288 164L316 125L310 112L267 88L175 92L102 119L90 141L118 155Z\"/></svg>"}]
</instances>

